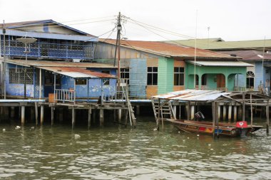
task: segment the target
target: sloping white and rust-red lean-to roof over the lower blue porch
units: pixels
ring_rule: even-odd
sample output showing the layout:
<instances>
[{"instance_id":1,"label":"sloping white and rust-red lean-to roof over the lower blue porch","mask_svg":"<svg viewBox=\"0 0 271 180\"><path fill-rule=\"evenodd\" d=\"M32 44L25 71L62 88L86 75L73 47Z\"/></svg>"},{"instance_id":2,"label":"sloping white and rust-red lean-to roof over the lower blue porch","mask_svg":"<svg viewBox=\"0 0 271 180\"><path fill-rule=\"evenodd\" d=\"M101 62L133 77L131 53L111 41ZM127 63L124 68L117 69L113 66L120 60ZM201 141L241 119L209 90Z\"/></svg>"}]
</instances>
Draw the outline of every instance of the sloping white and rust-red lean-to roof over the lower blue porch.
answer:
<instances>
[{"instance_id":1,"label":"sloping white and rust-red lean-to roof over the lower blue porch","mask_svg":"<svg viewBox=\"0 0 271 180\"><path fill-rule=\"evenodd\" d=\"M99 73L93 70L86 70L86 68L71 68L71 67L37 67L44 70L67 75L71 78L117 78L115 75L106 73Z\"/></svg>"}]
</instances>

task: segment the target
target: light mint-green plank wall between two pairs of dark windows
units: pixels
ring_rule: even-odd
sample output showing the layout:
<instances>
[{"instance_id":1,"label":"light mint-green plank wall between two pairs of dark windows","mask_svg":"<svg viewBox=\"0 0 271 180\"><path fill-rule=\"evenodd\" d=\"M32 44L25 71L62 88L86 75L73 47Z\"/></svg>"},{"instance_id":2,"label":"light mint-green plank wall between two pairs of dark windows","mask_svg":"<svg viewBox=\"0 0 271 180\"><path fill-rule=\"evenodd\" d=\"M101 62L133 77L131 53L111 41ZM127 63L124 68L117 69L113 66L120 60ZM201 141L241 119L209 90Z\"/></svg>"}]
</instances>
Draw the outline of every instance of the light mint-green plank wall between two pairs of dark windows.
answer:
<instances>
[{"instance_id":1,"label":"light mint-green plank wall between two pairs of dark windows","mask_svg":"<svg viewBox=\"0 0 271 180\"><path fill-rule=\"evenodd\" d=\"M173 92L173 58L159 58L158 60L158 94Z\"/></svg>"}]
</instances>

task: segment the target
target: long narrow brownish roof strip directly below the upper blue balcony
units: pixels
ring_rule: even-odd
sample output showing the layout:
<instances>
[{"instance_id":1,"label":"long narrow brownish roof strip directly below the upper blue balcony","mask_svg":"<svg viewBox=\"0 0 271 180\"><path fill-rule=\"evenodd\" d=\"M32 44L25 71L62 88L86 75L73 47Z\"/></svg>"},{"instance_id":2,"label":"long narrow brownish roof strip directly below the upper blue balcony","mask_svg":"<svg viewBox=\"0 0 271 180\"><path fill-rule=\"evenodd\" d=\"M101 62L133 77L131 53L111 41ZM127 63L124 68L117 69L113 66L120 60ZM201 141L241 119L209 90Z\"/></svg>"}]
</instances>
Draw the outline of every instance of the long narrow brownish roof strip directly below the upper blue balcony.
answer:
<instances>
[{"instance_id":1,"label":"long narrow brownish roof strip directly below the upper blue balcony","mask_svg":"<svg viewBox=\"0 0 271 180\"><path fill-rule=\"evenodd\" d=\"M71 67L71 68L117 68L113 65L102 63L73 63L64 61L48 61L48 60L6 60L6 63L23 65L28 67Z\"/></svg>"}]
</instances>

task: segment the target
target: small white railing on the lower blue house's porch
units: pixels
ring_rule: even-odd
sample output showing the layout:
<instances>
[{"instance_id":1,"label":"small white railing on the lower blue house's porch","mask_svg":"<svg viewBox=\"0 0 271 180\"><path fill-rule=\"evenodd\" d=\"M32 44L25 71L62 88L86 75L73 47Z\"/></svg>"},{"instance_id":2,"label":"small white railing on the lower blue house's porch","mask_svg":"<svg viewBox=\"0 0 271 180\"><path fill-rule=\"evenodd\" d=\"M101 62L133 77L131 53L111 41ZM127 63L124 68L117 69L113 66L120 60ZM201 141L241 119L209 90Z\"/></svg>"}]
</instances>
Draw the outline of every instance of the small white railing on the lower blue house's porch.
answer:
<instances>
[{"instance_id":1,"label":"small white railing on the lower blue house's porch","mask_svg":"<svg viewBox=\"0 0 271 180\"><path fill-rule=\"evenodd\" d=\"M75 90L55 90L55 101L62 102L75 102L76 101L76 91Z\"/></svg>"}]
</instances>

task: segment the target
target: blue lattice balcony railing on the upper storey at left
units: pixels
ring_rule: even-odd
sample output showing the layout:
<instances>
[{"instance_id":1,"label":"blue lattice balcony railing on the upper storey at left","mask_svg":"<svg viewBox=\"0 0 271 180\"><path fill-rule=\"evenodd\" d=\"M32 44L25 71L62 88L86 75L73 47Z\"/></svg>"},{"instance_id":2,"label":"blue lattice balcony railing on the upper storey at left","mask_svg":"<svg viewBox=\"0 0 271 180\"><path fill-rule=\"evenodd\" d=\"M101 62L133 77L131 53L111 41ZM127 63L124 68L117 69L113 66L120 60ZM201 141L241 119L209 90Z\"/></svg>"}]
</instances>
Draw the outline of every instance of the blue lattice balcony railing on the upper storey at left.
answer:
<instances>
[{"instance_id":1,"label":"blue lattice balcony railing on the upper storey at left","mask_svg":"<svg viewBox=\"0 0 271 180\"><path fill-rule=\"evenodd\" d=\"M1 40L1 54L3 55L3 40ZM23 43L6 41L6 55L24 56ZM29 57L35 58L63 58L63 59L93 59L93 46L61 43L31 43Z\"/></svg>"}]
</instances>

